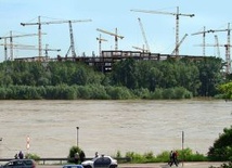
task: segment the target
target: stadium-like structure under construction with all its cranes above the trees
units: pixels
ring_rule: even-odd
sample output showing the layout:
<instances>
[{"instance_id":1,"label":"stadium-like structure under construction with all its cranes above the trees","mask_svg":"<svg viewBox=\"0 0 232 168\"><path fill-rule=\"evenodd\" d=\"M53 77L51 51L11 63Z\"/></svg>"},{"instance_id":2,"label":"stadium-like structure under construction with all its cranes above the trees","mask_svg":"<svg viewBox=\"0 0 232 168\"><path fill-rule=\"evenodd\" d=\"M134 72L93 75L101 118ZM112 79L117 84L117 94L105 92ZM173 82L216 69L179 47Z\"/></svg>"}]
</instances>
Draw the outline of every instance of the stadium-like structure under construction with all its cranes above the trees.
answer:
<instances>
[{"instance_id":1,"label":"stadium-like structure under construction with all its cranes above the trees","mask_svg":"<svg viewBox=\"0 0 232 168\"><path fill-rule=\"evenodd\" d=\"M111 72L112 65L120 60L125 60L127 57L132 57L138 61L164 61L167 59L181 59L181 57L188 57L191 60L202 60L206 56L205 48L206 47L215 47L217 48L218 55L220 55L220 47L223 47L225 49L225 73L231 73L231 57L230 57L230 23L228 24L227 28L223 29L206 29L204 27L204 30L197 31L192 34L191 36L201 35L203 38L203 43L199 44L203 49L202 55L181 55L179 54L179 50L181 44L184 42L185 38L189 36L188 34L184 34L184 36L180 39L179 37L179 27L180 23L179 20L182 16L185 17L194 17L194 14L183 14L179 12L179 7L177 7L176 12L160 12L160 11L146 11L146 10L130 10L130 12L139 12L139 13L149 13L149 14L159 14L159 15L170 15L175 16L176 25L176 41L173 51L171 53L153 53L150 50L150 44L146 39L146 34L143 27L143 23L140 17L138 17L139 27L141 30L141 35L143 37L143 46L142 47L136 47L132 46L133 50L120 50L118 49L118 42L119 40L124 39L124 36L118 35L118 28L115 28L115 31L108 31L101 28L95 28L95 30L99 33L99 37L95 38L98 41L98 48L99 52L98 54L92 53L91 55L86 55L85 53L79 55L76 54L75 50L75 38L74 38L74 30L73 30L73 24L75 23L86 23L86 22L92 22L92 20L63 20L63 21L51 21L51 22L42 22L41 17L38 16L37 22L29 22L29 23L20 23L21 26L36 26L38 33L36 34L25 34L25 35L13 35L12 31L10 31L9 36L2 36L0 37L0 40L2 40L3 43L0 46L3 46L4 48L4 61L24 61L24 62L65 62L65 61L73 61L73 62L82 62L87 65L94 66L96 69L105 73ZM42 26L46 25L52 25L52 24L68 24L69 28L69 48L67 49L67 52L65 55L61 55L59 52L61 49L53 49L49 48L49 44L46 44L43 48L42 44L42 37L47 34L42 31ZM227 33L227 43L225 44L219 44L218 37L215 35L215 43L208 44L206 43L206 35L207 34L214 34L214 33ZM114 49L111 50L102 50L102 42L107 41L105 38L102 37L102 35L109 36L114 38ZM31 44L15 44L14 40L15 38L26 38L26 37L36 37L38 38L38 46L31 46ZM14 50L36 50L38 51L37 56L24 56L24 57L15 57L14 56ZM43 53L44 52L44 53ZM50 57L49 52L57 52L56 57Z\"/></svg>"}]
</instances>

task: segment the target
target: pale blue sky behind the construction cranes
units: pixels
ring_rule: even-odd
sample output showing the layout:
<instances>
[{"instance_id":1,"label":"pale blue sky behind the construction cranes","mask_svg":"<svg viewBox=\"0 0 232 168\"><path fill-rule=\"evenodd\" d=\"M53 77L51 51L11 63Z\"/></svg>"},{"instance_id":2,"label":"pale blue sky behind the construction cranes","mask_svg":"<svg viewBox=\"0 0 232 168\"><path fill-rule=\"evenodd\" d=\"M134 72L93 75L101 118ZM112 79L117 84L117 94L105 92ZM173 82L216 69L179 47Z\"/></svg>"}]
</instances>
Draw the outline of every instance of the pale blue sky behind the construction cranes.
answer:
<instances>
[{"instance_id":1,"label":"pale blue sky behind the construction cranes","mask_svg":"<svg viewBox=\"0 0 232 168\"><path fill-rule=\"evenodd\" d=\"M91 55L99 54L96 37L102 35L106 42L102 42L102 50L114 50L114 37L96 31L101 28L111 33L118 30L124 36L118 40L118 50L134 50L132 46L144 44L138 17L141 18L151 51L170 54L176 42L176 17L168 14L151 14L131 12L131 10L151 10L176 13L177 7L182 14L195 14L194 17L180 16L179 39L189 36L180 47L180 54L202 55L203 36L191 34L206 29L225 29L232 21L231 0L0 0L0 36L37 34L38 26L21 26L21 23L92 20L92 22L74 23L74 39L76 53ZM232 27L232 26L231 26ZM50 49L61 49L64 56L70 46L68 24L42 25L42 47L49 44ZM219 43L227 43L227 31L206 34L206 43L215 44L215 35ZM38 37L21 37L13 39L15 44L30 44L38 47ZM1 43L4 41L1 40ZM221 57L224 59L224 48L220 48ZM9 53L10 55L10 53ZM49 52L55 57L57 52ZM206 48L206 55L216 55L214 47ZM38 51L14 50L15 57L38 56ZM3 46L0 46L0 62L4 60Z\"/></svg>"}]
</instances>

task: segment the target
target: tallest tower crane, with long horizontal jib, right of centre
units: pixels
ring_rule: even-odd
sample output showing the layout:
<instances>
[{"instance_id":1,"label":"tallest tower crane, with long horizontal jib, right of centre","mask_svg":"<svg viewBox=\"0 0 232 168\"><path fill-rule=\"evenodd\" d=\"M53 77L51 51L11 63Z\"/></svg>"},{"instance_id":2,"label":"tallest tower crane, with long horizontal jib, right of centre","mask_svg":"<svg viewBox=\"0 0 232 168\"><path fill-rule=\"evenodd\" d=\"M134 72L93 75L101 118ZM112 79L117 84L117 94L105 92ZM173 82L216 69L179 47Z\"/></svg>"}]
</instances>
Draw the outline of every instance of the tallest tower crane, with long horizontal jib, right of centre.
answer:
<instances>
[{"instance_id":1,"label":"tallest tower crane, with long horizontal jib, right of centre","mask_svg":"<svg viewBox=\"0 0 232 168\"><path fill-rule=\"evenodd\" d=\"M179 17L180 16L189 16L189 17L193 17L195 16L194 14L182 14L179 12L179 7L177 7L177 12L172 13L172 12L160 12L160 11L147 11L147 10L130 10L132 12L142 12L142 13L151 13L151 14L166 14L166 15L173 15L176 16L176 56L179 55L179 48L178 48L178 43L179 43Z\"/></svg>"}]
</instances>

